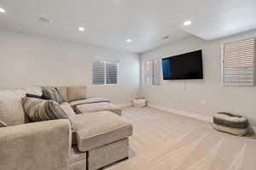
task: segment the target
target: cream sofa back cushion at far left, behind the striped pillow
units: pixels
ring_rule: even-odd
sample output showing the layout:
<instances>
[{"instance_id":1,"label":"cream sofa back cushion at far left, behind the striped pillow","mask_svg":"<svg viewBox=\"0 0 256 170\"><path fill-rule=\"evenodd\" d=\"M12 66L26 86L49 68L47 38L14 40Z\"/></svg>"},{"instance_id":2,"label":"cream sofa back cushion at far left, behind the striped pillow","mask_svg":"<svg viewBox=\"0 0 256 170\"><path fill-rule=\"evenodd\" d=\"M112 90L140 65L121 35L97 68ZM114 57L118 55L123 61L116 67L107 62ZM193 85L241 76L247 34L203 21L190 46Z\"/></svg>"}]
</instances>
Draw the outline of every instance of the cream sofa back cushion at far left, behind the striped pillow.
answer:
<instances>
[{"instance_id":1,"label":"cream sofa back cushion at far left, behind the striped pillow","mask_svg":"<svg viewBox=\"0 0 256 170\"><path fill-rule=\"evenodd\" d=\"M14 126L30 122L26 116L21 98L26 96L26 90L0 91L0 122L5 126Z\"/></svg>"}]
</instances>

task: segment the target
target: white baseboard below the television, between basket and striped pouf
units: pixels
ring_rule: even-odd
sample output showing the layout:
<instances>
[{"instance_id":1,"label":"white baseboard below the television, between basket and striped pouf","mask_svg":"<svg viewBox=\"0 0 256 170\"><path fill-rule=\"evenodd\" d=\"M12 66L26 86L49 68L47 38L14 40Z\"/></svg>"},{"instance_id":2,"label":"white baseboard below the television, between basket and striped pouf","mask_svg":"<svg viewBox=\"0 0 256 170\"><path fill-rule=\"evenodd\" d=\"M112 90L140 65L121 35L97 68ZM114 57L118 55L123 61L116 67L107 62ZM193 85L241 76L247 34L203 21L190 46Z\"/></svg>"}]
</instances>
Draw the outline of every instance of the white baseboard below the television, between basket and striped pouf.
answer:
<instances>
[{"instance_id":1,"label":"white baseboard below the television, between basket and striped pouf","mask_svg":"<svg viewBox=\"0 0 256 170\"><path fill-rule=\"evenodd\" d=\"M204 116L204 115L200 115L200 114L197 114L197 113L192 113L192 112L189 112L189 111L180 111L180 110L177 110L177 109L172 109L172 108L164 107L164 106L161 106L161 105L154 105L154 104L150 104L150 103L148 103L148 107L151 107L151 108L154 108L154 109L157 109L157 110L160 110L160 111L171 112L171 113L174 113L174 114L177 114L177 115L189 116L189 117L192 117L192 118L204 121L204 122L212 122L212 116Z\"/></svg>"}]
</instances>

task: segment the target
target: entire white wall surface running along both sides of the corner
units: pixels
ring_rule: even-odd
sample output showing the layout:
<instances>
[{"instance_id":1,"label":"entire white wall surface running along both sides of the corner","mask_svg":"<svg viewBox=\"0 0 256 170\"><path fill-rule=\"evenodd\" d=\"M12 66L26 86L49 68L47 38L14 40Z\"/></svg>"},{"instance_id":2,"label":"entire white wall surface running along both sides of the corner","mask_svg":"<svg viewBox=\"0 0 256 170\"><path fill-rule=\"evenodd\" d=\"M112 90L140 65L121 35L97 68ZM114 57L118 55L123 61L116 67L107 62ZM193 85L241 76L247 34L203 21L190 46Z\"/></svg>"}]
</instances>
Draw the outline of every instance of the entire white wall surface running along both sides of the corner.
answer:
<instances>
[{"instance_id":1,"label":"entire white wall surface running along both sides of the corner","mask_svg":"<svg viewBox=\"0 0 256 170\"><path fill-rule=\"evenodd\" d=\"M141 54L139 59L133 53L0 31L0 89L87 85L89 96L107 97L119 104L130 102L140 92L154 105L204 116L212 116L217 111L234 111L247 116L256 126L256 88L220 86L221 43L252 36L256 36L256 31L211 42L190 37ZM142 64L159 55L168 57L196 49L203 50L204 80L164 81L160 86L140 87L140 60ZM91 84L92 55L120 60L119 85ZM203 100L206 105L201 105Z\"/></svg>"}]
</instances>

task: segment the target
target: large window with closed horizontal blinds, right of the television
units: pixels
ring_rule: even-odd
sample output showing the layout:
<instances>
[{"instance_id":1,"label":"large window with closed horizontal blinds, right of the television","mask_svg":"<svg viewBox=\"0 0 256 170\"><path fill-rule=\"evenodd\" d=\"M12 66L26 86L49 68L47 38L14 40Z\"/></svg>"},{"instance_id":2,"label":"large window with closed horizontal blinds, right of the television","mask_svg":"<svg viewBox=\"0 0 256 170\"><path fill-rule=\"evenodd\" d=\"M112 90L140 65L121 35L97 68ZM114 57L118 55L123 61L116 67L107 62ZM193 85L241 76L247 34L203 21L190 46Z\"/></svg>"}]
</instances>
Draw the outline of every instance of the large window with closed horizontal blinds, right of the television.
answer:
<instances>
[{"instance_id":1,"label":"large window with closed horizontal blinds, right of the television","mask_svg":"<svg viewBox=\"0 0 256 170\"><path fill-rule=\"evenodd\" d=\"M224 44L222 83L224 86L255 86L255 38Z\"/></svg>"}]
</instances>

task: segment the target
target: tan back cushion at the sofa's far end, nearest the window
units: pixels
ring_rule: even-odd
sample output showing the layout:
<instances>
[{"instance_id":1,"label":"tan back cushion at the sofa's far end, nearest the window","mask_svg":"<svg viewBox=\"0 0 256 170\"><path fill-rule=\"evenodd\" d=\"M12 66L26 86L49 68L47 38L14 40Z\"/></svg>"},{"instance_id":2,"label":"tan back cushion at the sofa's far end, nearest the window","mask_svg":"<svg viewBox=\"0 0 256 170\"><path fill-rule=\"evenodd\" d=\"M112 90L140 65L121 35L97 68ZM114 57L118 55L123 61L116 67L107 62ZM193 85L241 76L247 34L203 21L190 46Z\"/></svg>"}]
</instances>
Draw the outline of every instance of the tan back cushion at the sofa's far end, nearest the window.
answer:
<instances>
[{"instance_id":1,"label":"tan back cushion at the sofa's far end, nearest the window","mask_svg":"<svg viewBox=\"0 0 256 170\"><path fill-rule=\"evenodd\" d=\"M68 102L72 102L79 99L86 99L86 87L85 86L67 87L67 99L68 99Z\"/></svg>"}]
</instances>

